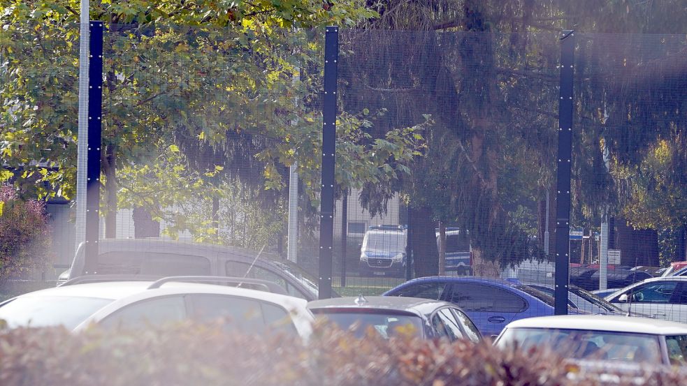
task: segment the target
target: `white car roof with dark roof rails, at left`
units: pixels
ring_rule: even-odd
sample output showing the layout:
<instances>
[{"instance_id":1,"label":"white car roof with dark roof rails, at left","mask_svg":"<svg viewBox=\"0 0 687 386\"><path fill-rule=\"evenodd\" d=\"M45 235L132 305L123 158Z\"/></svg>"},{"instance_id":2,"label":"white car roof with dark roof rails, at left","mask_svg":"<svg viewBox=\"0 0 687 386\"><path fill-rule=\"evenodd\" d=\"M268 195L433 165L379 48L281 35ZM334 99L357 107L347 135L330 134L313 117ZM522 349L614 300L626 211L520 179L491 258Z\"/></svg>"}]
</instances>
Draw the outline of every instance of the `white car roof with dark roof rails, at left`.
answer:
<instances>
[{"instance_id":1,"label":"white car roof with dark roof rails, at left","mask_svg":"<svg viewBox=\"0 0 687 386\"><path fill-rule=\"evenodd\" d=\"M236 288L229 285L215 285L205 283L180 283L168 282L159 288L148 289L154 281L105 281L97 283L82 283L73 285L62 285L55 288L46 288L29 292L19 297L35 296L68 296L68 297L96 297L101 299L120 300L129 296L150 292L150 295L159 295L164 292L166 295L184 293L212 293L217 295L231 295L237 297L250 297L274 303L303 302L288 295L280 295L272 292L250 290L248 288Z\"/></svg>"}]
</instances>

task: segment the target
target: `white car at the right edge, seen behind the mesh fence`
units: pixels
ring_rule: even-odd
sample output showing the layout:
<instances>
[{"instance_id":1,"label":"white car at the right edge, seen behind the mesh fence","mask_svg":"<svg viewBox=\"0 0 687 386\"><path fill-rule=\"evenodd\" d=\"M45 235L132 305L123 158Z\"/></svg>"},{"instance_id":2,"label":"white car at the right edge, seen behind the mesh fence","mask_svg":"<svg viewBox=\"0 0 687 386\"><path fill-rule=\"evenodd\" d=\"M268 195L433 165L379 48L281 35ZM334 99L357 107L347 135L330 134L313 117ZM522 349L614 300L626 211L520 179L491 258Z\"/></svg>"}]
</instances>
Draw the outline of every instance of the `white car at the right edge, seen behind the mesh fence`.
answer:
<instances>
[{"instance_id":1,"label":"white car at the right edge, seen behind the mesh fence","mask_svg":"<svg viewBox=\"0 0 687 386\"><path fill-rule=\"evenodd\" d=\"M646 279L608 295L623 311L687 323L687 276Z\"/></svg>"}]
</instances>

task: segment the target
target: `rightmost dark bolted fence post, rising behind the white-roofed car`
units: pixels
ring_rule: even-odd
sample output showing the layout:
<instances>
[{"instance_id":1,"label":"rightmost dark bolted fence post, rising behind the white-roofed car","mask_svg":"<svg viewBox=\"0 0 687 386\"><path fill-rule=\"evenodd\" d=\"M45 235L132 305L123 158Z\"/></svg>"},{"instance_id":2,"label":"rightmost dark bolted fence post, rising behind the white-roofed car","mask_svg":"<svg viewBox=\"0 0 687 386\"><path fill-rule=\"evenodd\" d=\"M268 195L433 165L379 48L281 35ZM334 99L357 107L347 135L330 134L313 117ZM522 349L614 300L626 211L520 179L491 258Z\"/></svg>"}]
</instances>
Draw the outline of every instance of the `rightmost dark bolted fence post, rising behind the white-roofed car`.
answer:
<instances>
[{"instance_id":1,"label":"rightmost dark bolted fence post, rising behind the white-roofed car","mask_svg":"<svg viewBox=\"0 0 687 386\"><path fill-rule=\"evenodd\" d=\"M574 31L561 36L561 99L558 101L558 163L556 185L556 315L567 315L570 283L570 165L572 156L572 80L574 76Z\"/></svg>"}]
</instances>

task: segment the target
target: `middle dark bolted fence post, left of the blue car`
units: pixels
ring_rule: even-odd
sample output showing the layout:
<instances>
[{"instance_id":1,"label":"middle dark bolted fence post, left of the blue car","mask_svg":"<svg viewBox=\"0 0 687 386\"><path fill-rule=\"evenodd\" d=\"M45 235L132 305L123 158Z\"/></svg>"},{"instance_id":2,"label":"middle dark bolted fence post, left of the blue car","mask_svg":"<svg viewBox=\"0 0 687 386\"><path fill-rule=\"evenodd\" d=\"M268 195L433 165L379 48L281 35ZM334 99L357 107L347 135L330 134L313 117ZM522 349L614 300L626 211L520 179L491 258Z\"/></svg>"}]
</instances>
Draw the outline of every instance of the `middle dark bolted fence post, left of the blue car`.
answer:
<instances>
[{"instance_id":1,"label":"middle dark bolted fence post, left of the blue car","mask_svg":"<svg viewBox=\"0 0 687 386\"><path fill-rule=\"evenodd\" d=\"M339 28L326 27L324 40L324 103L322 106L322 188L319 217L319 298L331 297L334 245L334 154Z\"/></svg>"}]
</instances>

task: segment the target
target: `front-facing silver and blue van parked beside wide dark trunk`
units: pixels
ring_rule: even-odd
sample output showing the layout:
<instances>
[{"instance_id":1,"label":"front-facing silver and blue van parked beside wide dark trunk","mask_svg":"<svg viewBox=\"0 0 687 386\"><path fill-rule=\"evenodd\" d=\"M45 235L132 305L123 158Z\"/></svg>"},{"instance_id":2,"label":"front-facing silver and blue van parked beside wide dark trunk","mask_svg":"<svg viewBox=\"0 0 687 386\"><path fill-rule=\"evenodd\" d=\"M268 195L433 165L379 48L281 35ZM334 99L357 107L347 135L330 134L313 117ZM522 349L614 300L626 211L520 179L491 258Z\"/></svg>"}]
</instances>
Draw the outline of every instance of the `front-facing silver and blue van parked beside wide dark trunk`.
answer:
<instances>
[{"instance_id":1,"label":"front-facing silver and blue van parked beside wide dark trunk","mask_svg":"<svg viewBox=\"0 0 687 386\"><path fill-rule=\"evenodd\" d=\"M407 231L401 225L373 225L360 248L360 276L405 277Z\"/></svg>"}]
</instances>

